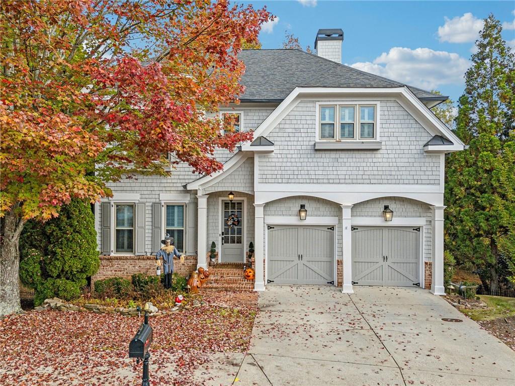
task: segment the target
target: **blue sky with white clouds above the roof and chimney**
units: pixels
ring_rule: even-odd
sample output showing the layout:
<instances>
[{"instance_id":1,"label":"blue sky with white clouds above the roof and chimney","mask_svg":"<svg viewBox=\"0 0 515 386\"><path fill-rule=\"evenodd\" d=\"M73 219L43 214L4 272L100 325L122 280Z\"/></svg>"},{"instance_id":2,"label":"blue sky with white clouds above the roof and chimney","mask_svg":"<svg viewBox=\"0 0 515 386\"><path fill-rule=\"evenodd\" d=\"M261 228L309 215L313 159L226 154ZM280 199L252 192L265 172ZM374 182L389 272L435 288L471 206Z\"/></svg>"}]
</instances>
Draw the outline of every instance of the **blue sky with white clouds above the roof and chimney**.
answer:
<instances>
[{"instance_id":1,"label":"blue sky with white clouds above the roof and chimney","mask_svg":"<svg viewBox=\"0 0 515 386\"><path fill-rule=\"evenodd\" d=\"M464 89L477 32L490 12L515 46L515 2L265 1L278 19L260 34L263 48L281 48L287 30L313 48L319 28L344 30L342 63L390 79L437 89L454 101Z\"/></svg>"}]
</instances>

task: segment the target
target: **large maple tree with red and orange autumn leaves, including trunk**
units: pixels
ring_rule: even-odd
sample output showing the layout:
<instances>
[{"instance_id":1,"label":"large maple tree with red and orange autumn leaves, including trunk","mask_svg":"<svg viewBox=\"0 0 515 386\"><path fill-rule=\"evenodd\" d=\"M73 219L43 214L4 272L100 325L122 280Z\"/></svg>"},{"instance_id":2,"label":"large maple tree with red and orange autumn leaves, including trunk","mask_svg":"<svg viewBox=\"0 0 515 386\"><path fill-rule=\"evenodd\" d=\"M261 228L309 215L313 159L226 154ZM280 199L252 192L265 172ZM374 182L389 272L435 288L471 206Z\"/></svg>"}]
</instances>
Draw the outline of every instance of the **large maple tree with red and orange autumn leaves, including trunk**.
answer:
<instances>
[{"instance_id":1,"label":"large maple tree with red and orange autumn leaves, including trunk","mask_svg":"<svg viewBox=\"0 0 515 386\"><path fill-rule=\"evenodd\" d=\"M252 134L205 113L237 101L242 44L270 15L227 0L0 2L0 314L20 310L18 242L27 219L58 216L106 182L164 175L165 154L197 173L215 148ZM94 172L93 172L94 171Z\"/></svg>"}]
</instances>

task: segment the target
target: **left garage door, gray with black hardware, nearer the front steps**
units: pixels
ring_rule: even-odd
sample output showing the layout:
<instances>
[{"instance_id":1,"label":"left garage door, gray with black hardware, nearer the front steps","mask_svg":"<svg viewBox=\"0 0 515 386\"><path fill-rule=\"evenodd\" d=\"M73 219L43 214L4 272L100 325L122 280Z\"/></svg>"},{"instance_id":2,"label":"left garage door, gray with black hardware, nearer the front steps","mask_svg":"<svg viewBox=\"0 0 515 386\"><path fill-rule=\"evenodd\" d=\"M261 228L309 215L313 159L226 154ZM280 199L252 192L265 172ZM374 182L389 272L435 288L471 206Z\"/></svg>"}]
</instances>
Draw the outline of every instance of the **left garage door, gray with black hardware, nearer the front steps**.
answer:
<instances>
[{"instance_id":1,"label":"left garage door, gray with black hardware, nearer the front steps","mask_svg":"<svg viewBox=\"0 0 515 386\"><path fill-rule=\"evenodd\" d=\"M272 225L267 243L268 283L333 283L333 227Z\"/></svg>"}]
</instances>

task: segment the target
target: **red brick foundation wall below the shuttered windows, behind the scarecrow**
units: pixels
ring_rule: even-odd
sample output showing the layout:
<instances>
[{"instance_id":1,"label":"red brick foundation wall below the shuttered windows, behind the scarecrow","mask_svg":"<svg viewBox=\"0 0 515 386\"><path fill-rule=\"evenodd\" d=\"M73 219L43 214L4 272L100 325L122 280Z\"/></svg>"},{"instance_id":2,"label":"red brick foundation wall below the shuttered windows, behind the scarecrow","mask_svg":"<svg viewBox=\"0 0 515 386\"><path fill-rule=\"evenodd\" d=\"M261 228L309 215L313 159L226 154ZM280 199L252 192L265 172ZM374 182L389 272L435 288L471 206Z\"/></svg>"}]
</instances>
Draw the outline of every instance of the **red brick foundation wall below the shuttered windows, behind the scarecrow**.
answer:
<instances>
[{"instance_id":1,"label":"red brick foundation wall below the shuttered windows, behind the scarecrow","mask_svg":"<svg viewBox=\"0 0 515 386\"><path fill-rule=\"evenodd\" d=\"M197 269L197 256L185 256L184 262L174 259L174 272L186 277ZM96 280L108 277L130 278L134 273L156 274L156 256L100 256L100 268L91 277Z\"/></svg>"}]
</instances>

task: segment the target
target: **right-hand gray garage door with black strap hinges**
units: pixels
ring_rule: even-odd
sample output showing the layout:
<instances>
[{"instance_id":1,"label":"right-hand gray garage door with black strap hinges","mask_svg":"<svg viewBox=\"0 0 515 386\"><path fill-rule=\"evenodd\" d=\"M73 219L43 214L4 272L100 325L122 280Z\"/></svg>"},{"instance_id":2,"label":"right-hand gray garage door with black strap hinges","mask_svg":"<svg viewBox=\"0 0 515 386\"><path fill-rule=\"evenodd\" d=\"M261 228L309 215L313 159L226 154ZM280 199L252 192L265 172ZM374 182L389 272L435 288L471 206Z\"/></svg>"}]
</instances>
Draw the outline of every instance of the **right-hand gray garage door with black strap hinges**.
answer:
<instances>
[{"instance_id":1,"label":"right-hand gray garage door with black strap hinges","mask_svg":"<svg viewBox=\"0 0 515 386\"><path fill-rule=\"evenodd\" d=\"M352 281L365 286L419 284L420 228L354 227Z\"/></svg>"}]
</instances>

